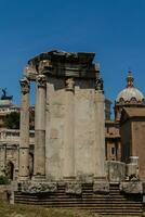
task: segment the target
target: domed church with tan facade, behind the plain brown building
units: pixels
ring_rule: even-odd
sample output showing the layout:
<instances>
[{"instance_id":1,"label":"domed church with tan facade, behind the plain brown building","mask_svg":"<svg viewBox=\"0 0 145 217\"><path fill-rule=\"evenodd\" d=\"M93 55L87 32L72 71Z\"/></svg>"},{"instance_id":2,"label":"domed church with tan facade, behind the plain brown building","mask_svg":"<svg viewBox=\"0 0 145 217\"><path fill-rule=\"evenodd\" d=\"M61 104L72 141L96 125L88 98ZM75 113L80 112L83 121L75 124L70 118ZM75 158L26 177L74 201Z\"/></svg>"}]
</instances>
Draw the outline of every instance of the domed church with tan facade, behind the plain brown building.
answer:
<instances>
[{"instance_id":1,"label":"domed church with tan facade, behind the plain brown building","mask_svg":"<svg viewBox=\"0 0 145 217\"><path fill-rule=\"evenodd\" d=\"M110 117L110 101L105 101L105 145L107 161L121 161L121 136L120 136L120 117L124 107L145 107L145 100L143 93L134 87L134 78L131 72L127 76L127 86L121 90L115 101L115 119Z\"/></svg>"}]
</instances>

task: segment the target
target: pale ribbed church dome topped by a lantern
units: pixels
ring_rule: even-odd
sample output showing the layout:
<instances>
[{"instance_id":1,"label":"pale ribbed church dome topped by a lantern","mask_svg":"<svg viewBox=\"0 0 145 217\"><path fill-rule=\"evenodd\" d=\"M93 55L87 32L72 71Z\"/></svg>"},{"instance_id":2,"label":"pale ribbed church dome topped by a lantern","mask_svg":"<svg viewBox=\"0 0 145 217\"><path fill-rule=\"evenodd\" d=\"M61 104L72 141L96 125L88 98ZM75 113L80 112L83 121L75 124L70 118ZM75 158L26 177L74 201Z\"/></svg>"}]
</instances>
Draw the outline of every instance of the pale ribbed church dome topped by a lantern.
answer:
<instances>
[{"instance_id":1,"label":"pale ribbed church dome topped by a lantern","mask_svg":"<svg viewBox=\"0 0 145 217\"><path fill-rule=\"evenodd\" d=\"M127 87L119 92L117 95L116 102L142 102L144 100L143 93L134 87L133 85L134 78L131 75L131 72L129 72L129 75L127 77Z\"/></svg>"}]
</instances>

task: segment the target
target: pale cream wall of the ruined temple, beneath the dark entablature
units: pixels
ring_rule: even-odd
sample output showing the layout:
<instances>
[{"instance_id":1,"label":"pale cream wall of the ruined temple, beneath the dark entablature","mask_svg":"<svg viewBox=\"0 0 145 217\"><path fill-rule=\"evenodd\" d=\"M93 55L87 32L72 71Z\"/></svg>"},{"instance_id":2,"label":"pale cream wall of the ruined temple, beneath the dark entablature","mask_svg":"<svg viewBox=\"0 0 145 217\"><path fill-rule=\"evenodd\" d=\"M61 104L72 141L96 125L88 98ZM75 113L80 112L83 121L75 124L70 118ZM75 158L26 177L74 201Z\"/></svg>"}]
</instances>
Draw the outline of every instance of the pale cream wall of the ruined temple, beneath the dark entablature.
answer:
<instances>
[{"instance_id":1,"label":"pale cream wall of the ruined temple, beneath the dark entablature","mask_svg":"<svg viewBox=\"0 0 145 217\"><path fill-rule=\"evenodd\" d=\"M78 79L75 91L69 98L67 94L64 79L49 78L45 168L47 177L52 179L63 179L65 175L94 175L95 171L97 150L94 82ZM67 133L70 133L69 141ZM67 146L68 142L72 142L71 148ZM68 170L71 171L67 174Z\"/></svg>"}]
</instances>

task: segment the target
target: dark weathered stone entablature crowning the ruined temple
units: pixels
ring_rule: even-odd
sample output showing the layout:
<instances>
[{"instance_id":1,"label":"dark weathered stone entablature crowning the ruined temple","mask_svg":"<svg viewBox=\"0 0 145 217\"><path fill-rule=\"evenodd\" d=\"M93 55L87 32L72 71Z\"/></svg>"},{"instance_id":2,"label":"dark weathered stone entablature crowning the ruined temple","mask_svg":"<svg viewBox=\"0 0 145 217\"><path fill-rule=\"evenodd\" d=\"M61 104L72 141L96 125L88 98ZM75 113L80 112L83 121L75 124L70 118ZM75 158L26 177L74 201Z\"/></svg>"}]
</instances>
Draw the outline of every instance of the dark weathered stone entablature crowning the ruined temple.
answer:
<instances>
[{"instance_id":1,"label":"dark weathered stone entablature crowning the ruined temple","mask_svg":"<svg viewBox=\"0 0 145 217\"><path fill-rule=\"evenodd\" d=\"M50 74L58 77L82 77L94 79L98 66L92 64L94 53L71 53L51 51L28 61L25 69L27 78L34 80L38 74Z\"/></svg>"}]
</instances>

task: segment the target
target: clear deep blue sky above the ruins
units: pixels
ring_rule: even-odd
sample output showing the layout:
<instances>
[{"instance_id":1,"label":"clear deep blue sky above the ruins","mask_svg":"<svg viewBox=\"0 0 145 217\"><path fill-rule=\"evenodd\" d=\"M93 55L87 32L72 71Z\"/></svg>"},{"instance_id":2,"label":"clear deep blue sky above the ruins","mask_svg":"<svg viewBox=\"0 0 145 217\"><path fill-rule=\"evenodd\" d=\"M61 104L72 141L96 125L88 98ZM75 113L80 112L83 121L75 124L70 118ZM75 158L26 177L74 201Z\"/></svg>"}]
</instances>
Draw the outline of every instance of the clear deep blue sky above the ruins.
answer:
<instances>
[{"instance_id":1,"label":"clear deep blue sky above the ruins","mask_svg":"<svg viewBox=\"0 0 145 217\"><path fill-rule=\"evenodd\" d=\"M0 0L0 88L15 103L27 61L52 49L95 52L113 101L129 69L145 94L145 1Z\"/></svg>"}]
</instances>

